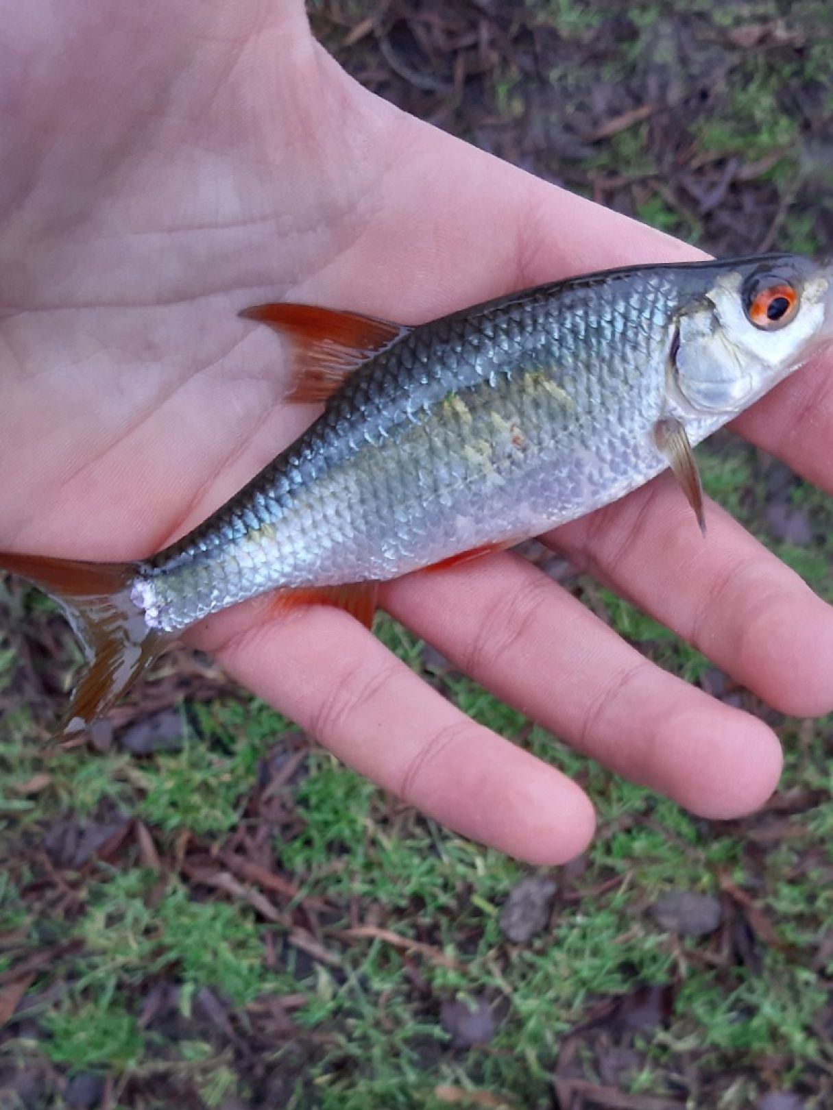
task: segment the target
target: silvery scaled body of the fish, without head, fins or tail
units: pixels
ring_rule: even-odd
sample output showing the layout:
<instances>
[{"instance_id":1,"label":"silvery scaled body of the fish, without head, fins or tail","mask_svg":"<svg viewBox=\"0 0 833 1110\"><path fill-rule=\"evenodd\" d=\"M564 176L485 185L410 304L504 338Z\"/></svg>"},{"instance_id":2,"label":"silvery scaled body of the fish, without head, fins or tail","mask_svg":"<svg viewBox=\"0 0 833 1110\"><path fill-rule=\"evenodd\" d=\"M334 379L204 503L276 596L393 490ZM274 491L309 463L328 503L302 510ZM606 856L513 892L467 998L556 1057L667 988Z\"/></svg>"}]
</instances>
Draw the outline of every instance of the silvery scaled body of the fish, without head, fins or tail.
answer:
<instances>
[{"instance_id":1,"label":"silvery scaled body of the fish, without head, fins or tail","mask_svg":"<svg viewBox=\"0 0 833 1110\"><path fill-rule=\"evenodd\" d=\"M666 465L650 431L671 319L692 278L713 281L682 272L541 286L414 329L233 503L141 566L153 619L175 630L264 589L395 577L641 484Z\"/></svg>"}]
</instances>

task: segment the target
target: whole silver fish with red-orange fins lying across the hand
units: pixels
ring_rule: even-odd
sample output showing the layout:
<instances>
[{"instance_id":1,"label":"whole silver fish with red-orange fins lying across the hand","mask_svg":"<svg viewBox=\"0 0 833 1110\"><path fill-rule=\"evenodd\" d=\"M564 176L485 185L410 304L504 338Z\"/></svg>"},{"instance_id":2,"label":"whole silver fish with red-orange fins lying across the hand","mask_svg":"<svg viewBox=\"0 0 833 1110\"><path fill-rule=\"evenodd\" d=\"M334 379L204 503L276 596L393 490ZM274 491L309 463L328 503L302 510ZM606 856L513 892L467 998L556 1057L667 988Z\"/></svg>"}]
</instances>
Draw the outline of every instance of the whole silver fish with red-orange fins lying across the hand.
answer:
<instances>
[{"instance_id":1,"label":"whole silver fish with red-orange fins lying across the hand","mask_svg":"<svg viewBox=\"0 0 833 1110\"><path fill-rule=\"evenodd\" d=\"M290 342L289 400L323 402L305 432L152 557L0 553L84 649L63 734L258 595L371 627L380 583L513 546L669 467L704 533L693 447L833 341L833 260L620 268L415 326L291 303L241 316Z\"/></svg>"}]
</instances>

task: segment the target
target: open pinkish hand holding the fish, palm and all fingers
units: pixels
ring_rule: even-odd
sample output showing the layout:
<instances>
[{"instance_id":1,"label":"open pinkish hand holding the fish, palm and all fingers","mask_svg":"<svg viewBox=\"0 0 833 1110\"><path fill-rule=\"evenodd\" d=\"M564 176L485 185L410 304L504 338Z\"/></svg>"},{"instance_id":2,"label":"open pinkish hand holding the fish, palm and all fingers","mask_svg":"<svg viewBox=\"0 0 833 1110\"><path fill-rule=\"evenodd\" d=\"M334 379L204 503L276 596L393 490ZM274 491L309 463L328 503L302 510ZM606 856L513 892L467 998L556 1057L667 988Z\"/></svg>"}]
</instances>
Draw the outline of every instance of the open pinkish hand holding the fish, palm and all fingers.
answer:
<instances>
[{"instance_id":1,"label":"open pinkish hand holding the fish, palm and all fingers","mask_svg":"<svg viewBox=\"0 0 833 1110\"><path fill-rule=\"evenodd\" d=\"M402 114L312 41L300 0L160 11L0 0L0 548L151 554L309 423L284 352L237 313L300 300L416 322L569 272L685 258L655 232ZM826 367L829 374L830 367ZM741 422L833 484L833 391L797 374ZM716 506L663 478L565 548L774 706L833 706L833 619ZM524 713L710 816L780 769L760 722L666 675L534 567L411 576L385 607ZM377 781L530 860L592 809L345 614L241 606L193 642Z\"/></svg>"}]
</instances>

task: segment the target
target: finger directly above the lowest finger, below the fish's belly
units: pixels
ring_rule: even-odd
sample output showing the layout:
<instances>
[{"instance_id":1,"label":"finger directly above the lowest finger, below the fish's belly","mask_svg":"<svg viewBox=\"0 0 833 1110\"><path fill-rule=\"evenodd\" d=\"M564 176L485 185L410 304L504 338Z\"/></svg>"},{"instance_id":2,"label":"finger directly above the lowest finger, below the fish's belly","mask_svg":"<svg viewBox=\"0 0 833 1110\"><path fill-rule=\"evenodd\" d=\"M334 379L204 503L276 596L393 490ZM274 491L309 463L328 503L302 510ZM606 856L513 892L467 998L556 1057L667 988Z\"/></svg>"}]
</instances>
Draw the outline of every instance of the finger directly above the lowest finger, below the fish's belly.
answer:
<instances>
[{"instance_id":1,"label":"finger directly above the lowest finger, below the fish's belly","mask_svg":"<svg viewBox=\"0 0 833 1110\"><path fill-rule=\"evenodd\" d=\"M518 555L411 575L385 607L499 697L697 814L747 813L777 781L762 722L644 659Z\"/></svg>"}]
</instances>

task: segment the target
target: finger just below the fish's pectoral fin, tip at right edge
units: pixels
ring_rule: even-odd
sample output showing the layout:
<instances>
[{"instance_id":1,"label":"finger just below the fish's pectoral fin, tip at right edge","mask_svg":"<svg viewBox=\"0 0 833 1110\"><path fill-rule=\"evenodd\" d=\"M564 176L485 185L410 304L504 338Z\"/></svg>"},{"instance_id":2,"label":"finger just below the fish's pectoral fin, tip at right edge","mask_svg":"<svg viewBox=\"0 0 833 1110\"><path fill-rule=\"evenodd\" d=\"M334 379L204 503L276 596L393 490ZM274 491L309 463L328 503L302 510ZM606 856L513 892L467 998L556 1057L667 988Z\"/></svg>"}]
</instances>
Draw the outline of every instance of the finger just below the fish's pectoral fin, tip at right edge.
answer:
<instances>
[{"instance_id":1,"label":"finger just below the fish's pectoral fin, tip at right edge","mask_svg":"<svg viewBox=\"0 0 833 1110\"><path fill-rule=\"evenodd\" d=\"M670 475L545 542L775 708L833 708L833 609L722 508L705 538Z\"/></svg>"}]
</instances>

